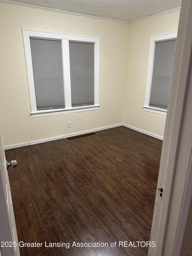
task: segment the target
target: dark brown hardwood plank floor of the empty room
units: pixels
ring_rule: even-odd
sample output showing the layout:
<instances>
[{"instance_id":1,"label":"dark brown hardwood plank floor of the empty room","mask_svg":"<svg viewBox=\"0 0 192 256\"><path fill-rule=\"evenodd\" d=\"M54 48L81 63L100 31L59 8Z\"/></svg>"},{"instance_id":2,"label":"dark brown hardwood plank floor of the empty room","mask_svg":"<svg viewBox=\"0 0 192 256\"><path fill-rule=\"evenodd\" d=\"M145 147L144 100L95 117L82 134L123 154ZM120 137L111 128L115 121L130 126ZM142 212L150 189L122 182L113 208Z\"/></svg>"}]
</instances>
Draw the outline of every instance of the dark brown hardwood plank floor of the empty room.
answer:
<instances>
[{"instance_id":1,"label":"dark brown hardwood plank floor of the empty room","mask_svg":"<svg viewBox=\"0 0 192 256\"><path fill-rule=\"evenodd\" d=\"M43 243L20 247L21 256L147 255L148 247L118 242L150 239L162 141L125 127L98 134L5 151L18 163L9 168L18 239Z\"/></svg>"}]
</instances>

